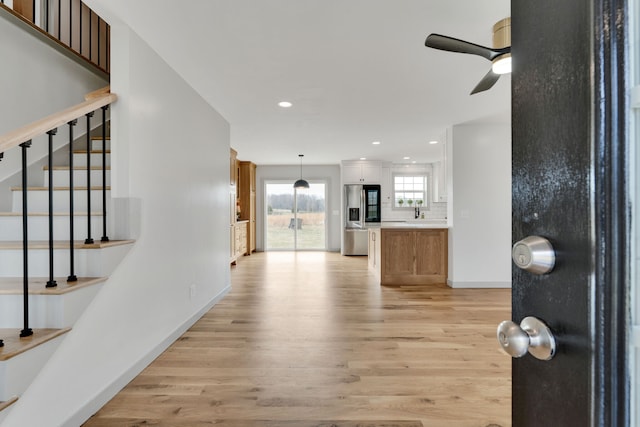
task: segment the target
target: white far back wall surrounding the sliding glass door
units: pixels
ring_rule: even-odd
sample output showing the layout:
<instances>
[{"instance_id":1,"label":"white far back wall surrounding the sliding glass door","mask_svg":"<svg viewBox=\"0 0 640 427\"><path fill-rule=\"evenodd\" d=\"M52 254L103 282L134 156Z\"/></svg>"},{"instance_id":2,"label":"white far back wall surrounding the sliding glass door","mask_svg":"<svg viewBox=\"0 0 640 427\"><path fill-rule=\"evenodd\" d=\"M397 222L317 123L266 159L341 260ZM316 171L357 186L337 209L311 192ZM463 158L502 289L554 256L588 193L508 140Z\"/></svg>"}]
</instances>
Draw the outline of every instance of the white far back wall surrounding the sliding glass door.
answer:
<instances>
[{"instance_id":1,"label":"white far back wall surrounding the sliding glass door","mask_svg":"<svg viewBox=\"0 0 640 427\"><path fill-rule=\"evenodd\" d=\"M250 159L250 154L238 153L238 158ZM253 160L256 161L255 159ZM307 181L327 182L327 249L340 251L340 166L303 165L303 178ZM264 182L265 180L289 180L291 185L300 178L300 166L260 166L256 168L256 248L264 250Z\"/></svg>"}]
</instances>

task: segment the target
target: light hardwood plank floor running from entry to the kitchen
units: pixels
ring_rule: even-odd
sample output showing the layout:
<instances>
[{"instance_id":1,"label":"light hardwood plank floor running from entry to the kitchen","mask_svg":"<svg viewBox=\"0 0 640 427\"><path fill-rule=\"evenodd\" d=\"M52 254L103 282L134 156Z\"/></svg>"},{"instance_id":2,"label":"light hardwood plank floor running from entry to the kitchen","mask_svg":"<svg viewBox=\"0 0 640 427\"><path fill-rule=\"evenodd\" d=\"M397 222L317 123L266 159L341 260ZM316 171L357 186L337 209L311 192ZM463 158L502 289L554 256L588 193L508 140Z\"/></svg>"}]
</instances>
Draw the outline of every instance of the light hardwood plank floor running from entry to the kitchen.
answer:
<instances>
[{"instance_id":1,"label":"light hardwood plank floor running from entry to the kitchen","mask_svg":"<svg viewBox=\"0 0 640 427\"><path fill-rule=\"evenodd\" d=\"M366 257L258 253L85 426L507 427L509 290L380 287Z\"/></svg>"}]
</instances>

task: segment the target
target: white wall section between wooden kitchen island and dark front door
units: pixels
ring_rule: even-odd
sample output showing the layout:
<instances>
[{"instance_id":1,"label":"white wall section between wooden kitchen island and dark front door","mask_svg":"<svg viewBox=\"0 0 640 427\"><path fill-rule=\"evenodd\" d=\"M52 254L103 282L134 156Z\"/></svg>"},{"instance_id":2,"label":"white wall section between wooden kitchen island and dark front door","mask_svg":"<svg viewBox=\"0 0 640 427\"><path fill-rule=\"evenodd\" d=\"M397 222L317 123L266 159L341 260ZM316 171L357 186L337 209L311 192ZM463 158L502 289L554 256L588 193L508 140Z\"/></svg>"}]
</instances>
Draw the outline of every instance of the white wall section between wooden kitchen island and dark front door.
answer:
<instances>
[{"instance_id":1,"label":"white wall section between wooden kitchen island and dark front door","mask_svg":"<svg viewBox=\"0 0 640 427\"><path fill-rule=\"evenodd\" d=\"M459 125L448 159L448 283L511 286L511 126Z\"/></svg>"}]
</instances>

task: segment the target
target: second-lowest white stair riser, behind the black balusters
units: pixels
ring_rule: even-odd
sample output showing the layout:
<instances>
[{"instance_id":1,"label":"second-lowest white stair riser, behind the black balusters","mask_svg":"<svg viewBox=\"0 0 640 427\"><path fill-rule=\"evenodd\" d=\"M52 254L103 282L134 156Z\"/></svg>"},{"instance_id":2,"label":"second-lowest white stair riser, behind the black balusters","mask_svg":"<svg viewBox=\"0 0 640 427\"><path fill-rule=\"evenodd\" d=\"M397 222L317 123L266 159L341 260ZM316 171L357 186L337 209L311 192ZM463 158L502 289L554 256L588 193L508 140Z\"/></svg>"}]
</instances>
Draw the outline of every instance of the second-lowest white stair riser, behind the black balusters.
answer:
<instances>
[{"instance_id":1,"label":"second-lowest white stair riser, behind the black balusters","mask_svg":"<svg viewBox=\"0 0 640 427\"><path fill-rule=\"evenodd\" d=\"M102 285L103 283L98 283L62 295L30 295L29 327L71 327ZM23 328L22 309L22 295L0 295L0 328Z\"/></svg>"}]
</instances>

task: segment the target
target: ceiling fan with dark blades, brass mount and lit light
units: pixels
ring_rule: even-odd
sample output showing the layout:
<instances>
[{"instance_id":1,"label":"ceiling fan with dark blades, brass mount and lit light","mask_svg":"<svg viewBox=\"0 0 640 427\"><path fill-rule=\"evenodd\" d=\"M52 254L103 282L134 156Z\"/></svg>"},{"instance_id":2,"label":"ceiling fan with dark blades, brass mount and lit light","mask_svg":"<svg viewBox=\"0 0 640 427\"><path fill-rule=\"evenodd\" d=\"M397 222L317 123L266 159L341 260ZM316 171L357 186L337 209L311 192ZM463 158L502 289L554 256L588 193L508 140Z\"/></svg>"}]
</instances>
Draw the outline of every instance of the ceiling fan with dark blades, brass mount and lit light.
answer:
<instances>
[{"instance_id":1,"label":"ceiling fan with dark blades, brass mount and lit light","mask_svg":"<svg viewBox=\"0 0 640 427\"><path fill-rule=\"evenodd\" d=\"M424 45L449 52L478 55L493 63L489 72L473 88L471 95L491 89L501 74L511 72L511 18L502 19L493 26L493 48L441 34L429 34Z\"/></svg>"}]
</instances>

